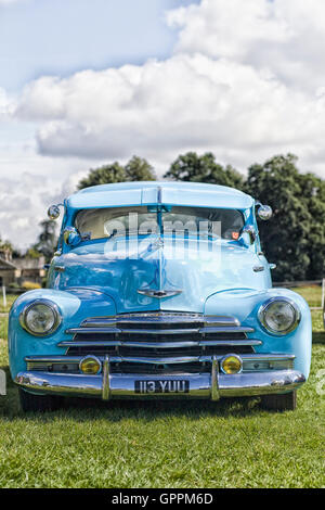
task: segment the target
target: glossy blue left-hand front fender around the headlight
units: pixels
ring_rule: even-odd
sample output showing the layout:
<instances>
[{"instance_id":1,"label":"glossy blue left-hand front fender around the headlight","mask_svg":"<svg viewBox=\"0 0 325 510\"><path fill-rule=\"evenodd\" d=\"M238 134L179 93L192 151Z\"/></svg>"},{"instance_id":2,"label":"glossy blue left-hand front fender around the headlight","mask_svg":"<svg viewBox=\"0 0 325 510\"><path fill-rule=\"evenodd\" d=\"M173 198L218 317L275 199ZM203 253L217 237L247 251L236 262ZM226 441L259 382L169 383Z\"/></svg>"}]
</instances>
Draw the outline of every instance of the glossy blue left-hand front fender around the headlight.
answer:
<instances>
[{"instance_id":1,"label":"glossy blue left-hand front fender around the headlight","mask_svg":"<svg viewBox=\"0 0 325 510\"><path fill-rule=\"evenodd\" d=\"M58 329L49 336L34 336L20 323L20 315L24 308L40 298L55 303L62 315ZM68 291L42 289L26 292L15 301L9 315L8 344L12 378L26 369L26 356L63 355L65 348L57 347L57 343L72 339L72 335L65 332L66 329L79 326L87 317L110 315L116 315L115 304L100 291L79 288Z\"/></svg>"}]
</instances>

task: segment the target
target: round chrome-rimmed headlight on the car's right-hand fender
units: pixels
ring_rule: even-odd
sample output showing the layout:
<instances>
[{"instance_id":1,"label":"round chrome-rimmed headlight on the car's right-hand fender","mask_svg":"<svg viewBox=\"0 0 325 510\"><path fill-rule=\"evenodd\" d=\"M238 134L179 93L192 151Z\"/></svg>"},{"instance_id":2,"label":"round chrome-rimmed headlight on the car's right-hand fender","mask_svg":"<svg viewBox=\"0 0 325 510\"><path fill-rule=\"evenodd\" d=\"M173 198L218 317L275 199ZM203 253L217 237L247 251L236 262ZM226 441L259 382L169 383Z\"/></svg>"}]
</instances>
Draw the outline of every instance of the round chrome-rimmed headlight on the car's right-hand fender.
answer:
<instances>
[{"instance_id":1,"label":"round chrome-rimmed headlight on the car's right-hand fender","mask_svg":"<svg viewBox=\"0 0 325 510\"><path fill-rule=\"evenodd\" d=\"M288 334L299 324L300 310L285 297L273 297L259 309L259 320L270 333Z\"/></svg>"}]
</instances>

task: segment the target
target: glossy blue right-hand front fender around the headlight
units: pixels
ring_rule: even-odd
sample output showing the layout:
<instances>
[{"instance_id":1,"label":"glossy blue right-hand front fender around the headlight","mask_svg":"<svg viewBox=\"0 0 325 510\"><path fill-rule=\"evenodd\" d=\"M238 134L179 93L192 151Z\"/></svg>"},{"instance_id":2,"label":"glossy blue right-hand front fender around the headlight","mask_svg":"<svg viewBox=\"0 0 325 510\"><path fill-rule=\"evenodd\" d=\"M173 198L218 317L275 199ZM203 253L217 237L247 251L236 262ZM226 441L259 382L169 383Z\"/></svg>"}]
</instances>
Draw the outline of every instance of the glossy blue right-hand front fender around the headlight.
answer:
<instances>
[{"instance_id":1,"label":"glossy blue right-hand front fender around the headlight","mask_svg":"<svg viewBox=\"0 0 325 510\"><path fill-rule=\"evenodd\" d=\"M294 301L301 311L298 328L285 336L268 333L258 319L260 306L275 296ZM255 332L249 333L248 337L263 342L262 345L256 347L257 353L294 354L296 356L295 369L302 372L308 379L312 350L311 314L307 302L296 292L288 289L269 289L265 291L233 289L217 292L206 301L205 314L237 317L243 326L255 329Z\"/></svg>"}]
</instances>

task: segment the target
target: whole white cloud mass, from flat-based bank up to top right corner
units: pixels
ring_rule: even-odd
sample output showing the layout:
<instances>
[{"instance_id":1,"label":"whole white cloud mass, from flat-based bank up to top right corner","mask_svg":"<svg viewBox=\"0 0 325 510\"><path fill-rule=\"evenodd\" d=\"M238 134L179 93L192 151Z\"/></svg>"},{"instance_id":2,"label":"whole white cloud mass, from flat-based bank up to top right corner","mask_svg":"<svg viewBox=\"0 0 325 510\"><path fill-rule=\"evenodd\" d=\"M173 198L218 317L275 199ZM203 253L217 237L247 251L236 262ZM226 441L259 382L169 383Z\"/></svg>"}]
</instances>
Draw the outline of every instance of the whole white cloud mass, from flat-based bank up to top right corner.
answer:
<instances>
[{"instance_id":1,"label":"whole white cloud mass, from flat-based bank up to top right corner","mask_svg":"<svg viewBox=\"0 0 325 510\"><path fill-rule=\"evenodd\" d=\"M213 150L256 155L323 146L322 0L203 0L167 14L180 28L164 62L29 84L17 116L40 123L41 154L122 158ZM307 38L309 34L309 38ZM300 41L303 38L303 41ZM292 49L298 44L297 54ZM323 54L322 54L323 63ZM309 76L316 65L316 79ZM322 76L322 79L321 79ZM249 161L250 158L250 161Z\"/></svg>"}]
</instances>

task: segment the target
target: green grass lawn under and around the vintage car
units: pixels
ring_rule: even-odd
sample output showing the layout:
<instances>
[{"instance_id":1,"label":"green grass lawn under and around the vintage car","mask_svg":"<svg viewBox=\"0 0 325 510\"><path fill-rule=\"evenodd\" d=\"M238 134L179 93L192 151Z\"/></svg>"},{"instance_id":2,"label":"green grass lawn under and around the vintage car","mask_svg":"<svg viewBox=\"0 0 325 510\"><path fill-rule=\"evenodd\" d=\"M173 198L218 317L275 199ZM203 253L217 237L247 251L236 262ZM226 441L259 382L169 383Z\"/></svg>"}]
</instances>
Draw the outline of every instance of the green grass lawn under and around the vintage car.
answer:
<instances>
[{"instance_id":1,"label":"green grass lawn under and around the vintage car","mask_svg":"<svg viewBox=\"0 0 325 510\"><path fill-rule=\"evenodd\" d=\"M263 411L258 398L87 407L76 399L24 416L10 382L0 397L0 487L324 487L321 311L313 330L312 374L295 412ZM5 340L0 368L8 371Z\"/></svg>"}]
</instances>

